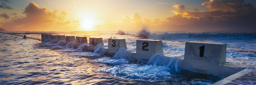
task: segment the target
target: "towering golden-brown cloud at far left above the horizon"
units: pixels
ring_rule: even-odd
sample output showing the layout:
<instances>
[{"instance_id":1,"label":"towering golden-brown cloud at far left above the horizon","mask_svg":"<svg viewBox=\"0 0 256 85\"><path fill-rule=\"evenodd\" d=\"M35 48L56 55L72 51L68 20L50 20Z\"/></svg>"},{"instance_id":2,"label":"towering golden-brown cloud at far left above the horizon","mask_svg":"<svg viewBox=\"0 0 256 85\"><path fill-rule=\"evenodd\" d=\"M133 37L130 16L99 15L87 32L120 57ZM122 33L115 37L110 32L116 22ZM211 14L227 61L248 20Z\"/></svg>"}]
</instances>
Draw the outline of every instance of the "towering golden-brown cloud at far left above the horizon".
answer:
<instances>
[{"instance_id":1,"label":"towering golden-brown cloud at far left above the horizon","mask_svg":"<svg viewBox=\"0 0 256 85\"><path fill-rule=\"evenodd\" d=\"M9 31L74 31L77 30L73 21L64 21L65 11L51 11L39 8L36 3L30 3L25 9L25 17L13 17L12 21L2 24ZM12 13L11 15L17 15ZM58 16L59 15L59 16Z\"/></svg>"}]
</instances>

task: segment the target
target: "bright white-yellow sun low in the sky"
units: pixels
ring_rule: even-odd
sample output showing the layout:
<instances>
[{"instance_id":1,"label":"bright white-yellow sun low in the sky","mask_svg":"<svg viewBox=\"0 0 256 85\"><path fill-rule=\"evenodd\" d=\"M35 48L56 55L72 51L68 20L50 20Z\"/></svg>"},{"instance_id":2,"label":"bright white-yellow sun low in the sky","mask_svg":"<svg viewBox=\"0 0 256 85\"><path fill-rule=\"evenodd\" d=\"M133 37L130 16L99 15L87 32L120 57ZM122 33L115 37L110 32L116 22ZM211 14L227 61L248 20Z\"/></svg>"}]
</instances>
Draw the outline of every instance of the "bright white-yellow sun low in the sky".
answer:
<instances>
[{"instance_id":1,"label":"bright white-yellow sun low in the sky","mask_svg":"<svg viewBox=\"0 0 256 85\"><path fill-rule=\"evenodd\" d=\"M91 31L93 27L96 25L95 21L93 19L83 19L80 21L81 28L85 31Z\"/></svg>"}]
</instances>

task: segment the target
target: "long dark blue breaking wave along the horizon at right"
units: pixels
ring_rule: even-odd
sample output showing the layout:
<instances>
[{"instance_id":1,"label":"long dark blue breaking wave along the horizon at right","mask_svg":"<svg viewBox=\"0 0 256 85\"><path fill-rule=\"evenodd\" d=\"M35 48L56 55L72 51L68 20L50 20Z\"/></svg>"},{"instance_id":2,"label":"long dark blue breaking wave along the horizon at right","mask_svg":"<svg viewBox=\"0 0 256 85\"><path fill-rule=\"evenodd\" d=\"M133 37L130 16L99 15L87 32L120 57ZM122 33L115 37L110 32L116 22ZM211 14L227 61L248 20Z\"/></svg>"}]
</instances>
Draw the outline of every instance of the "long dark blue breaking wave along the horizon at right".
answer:
<instances>
[{"instance_id":1,"label":"long dark blue breaking wave along the horizon at right","mask_svg":"<svg viewBox=\"0 0 256 85\"><path fill-rule=\"evenodd\" d=\"M220 41L256 41L255 33L215 33L215 32L201 32L201 33L158 33L151 34L147 30L142 30L137 33L137 37L154 40L188 40L188 39L199 39L199 40L220 40Z\"/></svg>"}]
</instances>

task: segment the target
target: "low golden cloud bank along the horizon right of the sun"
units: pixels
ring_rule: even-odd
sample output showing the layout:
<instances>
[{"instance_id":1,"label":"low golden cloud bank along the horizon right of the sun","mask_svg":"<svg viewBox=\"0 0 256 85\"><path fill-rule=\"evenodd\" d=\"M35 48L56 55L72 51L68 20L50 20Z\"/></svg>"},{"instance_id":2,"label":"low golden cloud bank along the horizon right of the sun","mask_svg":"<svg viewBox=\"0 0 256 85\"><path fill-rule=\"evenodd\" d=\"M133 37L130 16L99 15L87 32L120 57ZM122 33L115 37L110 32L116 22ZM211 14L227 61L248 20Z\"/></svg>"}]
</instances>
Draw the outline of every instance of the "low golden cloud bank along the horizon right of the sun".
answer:
<instances>
[{"instance_id":1,"label":"low golden cloud bank along the horizon right of the sun","mask_svg":"<svg viewBox=\"0 0 256 85\"><path fill-rule=\"evenodd\" d=\"M121 28L128 31L138 31L145 26L150 31L256 31L255 19L256 13L237 15L229 19L219 19L210 15L188 18L177 14L167 17L164 21L159 19L150 21L135 13L131 17L124 16Z\"/></svg>"}]
</instances>

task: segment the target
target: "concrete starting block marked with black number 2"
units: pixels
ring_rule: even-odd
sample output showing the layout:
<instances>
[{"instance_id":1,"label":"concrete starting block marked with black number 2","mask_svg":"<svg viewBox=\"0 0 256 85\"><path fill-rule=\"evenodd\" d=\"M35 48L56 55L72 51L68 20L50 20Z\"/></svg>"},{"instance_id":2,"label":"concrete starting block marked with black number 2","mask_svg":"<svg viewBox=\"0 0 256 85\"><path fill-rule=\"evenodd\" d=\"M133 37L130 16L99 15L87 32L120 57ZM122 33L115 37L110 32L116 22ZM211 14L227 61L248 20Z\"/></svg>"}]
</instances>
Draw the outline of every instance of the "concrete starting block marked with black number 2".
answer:
<instances>
[{"instance_id":1,"label":"concrete starting block marked with black number 2","mask_svg":"<svg viewBox=\"0 0 256 85\"><path fill-rule=\"evenodd\" d=\"M163 45L160 40L137 40L135 59L148 62L153 54L163 53Z\"/></svg>"}]
</instances>

